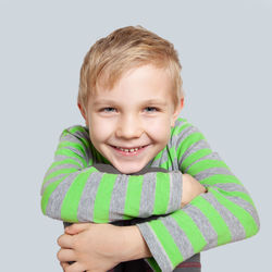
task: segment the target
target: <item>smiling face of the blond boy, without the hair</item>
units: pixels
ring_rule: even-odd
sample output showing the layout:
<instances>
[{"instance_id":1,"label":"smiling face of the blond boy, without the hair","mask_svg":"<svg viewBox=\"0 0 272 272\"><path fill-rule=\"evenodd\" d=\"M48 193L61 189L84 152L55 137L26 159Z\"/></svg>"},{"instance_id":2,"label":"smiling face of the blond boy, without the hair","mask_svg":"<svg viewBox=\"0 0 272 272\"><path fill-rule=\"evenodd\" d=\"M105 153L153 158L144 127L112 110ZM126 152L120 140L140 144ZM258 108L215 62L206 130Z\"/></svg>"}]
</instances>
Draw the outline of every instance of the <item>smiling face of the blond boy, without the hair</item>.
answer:
<instances>
[{"instance_id":1,"label":"smiling face of the blond boy, without the hair","mask_svg":"<svg viewBox=\"0 0 272 272\"><path fill-rule=\"evenodd\" d=\"M90 140L124 174L145 168L168 144L175 109L165 71L144 65L125 73L111 89L99 87L82 113ZM79 107L81 108L81 107Z\"/></svg>"}]
</instances>

